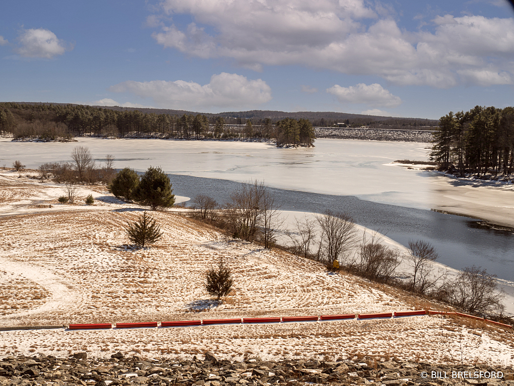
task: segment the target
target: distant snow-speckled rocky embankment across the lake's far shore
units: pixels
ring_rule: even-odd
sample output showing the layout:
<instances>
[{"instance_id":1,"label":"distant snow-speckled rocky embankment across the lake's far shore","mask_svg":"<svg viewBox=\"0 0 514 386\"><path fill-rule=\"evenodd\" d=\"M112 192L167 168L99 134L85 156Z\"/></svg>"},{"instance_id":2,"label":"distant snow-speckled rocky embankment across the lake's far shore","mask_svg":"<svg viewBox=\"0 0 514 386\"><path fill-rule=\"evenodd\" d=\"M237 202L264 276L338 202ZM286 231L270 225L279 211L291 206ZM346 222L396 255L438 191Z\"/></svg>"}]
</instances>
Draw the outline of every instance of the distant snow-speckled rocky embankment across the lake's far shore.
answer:
<instances>
[{"instance_id":1,"label":"distant snow-speckled rocky embankment across the lake's far shore","mask_svg":"<svg viewBox=\"0 0 514 386\"><path fill-rule=\"evenodd\" d=\"M314 128L316 138L363 139L367 141L401 141L426 142L433 140L433 131L427 130L387 130L387 129L332 129L325 127Z\"/></svg>"}]
</instances>

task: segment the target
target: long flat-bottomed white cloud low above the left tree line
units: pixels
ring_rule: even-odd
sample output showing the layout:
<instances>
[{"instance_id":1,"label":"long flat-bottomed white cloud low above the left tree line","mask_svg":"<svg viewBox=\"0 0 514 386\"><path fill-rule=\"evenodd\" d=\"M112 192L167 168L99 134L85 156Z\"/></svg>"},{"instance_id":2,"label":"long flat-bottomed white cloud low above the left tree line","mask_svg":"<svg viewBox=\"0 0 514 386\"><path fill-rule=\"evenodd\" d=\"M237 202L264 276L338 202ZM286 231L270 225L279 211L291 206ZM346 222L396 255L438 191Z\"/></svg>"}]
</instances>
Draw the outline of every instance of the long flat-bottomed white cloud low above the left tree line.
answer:
<instances>
[{"instance_id":1,"label":"long flat-bottomed white cloud low above the left tree line","mask_svg":"<svg viewBox=\"0 0 514 386\"><path fill-rule=\"evenodd\" d=\"M183 80L128 80L109 87L109 91L129 92L142 98L152 98L161 108L183 110L249 108L271 100L271 89L265 81L248 80L242 75L227 73L213 75L205 85Z\"/></svg>"}]
</instances>

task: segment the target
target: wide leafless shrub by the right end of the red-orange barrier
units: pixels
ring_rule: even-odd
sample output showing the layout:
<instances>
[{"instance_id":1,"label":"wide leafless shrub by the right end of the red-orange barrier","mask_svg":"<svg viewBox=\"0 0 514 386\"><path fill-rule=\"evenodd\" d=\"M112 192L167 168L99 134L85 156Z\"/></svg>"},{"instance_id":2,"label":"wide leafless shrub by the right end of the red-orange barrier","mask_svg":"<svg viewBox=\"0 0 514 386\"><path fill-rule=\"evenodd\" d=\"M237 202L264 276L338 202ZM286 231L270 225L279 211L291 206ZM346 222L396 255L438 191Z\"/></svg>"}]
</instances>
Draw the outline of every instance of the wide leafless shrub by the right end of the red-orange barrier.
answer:
<instances>
[{"instance_id":1,"label":"wide leafless shrub by the right end of the red-orange barrier","mask_svg":"<svg viewBox=\"0 0 514 386\"><path fill-rule=\"evenodd\" d=\"M464 268L455 280L443 284L439 295L465 312L483 316L501 314L505 309L501 303L505 294L498 290L496 275L481 267Z\"/></svg>"}]
</instances>

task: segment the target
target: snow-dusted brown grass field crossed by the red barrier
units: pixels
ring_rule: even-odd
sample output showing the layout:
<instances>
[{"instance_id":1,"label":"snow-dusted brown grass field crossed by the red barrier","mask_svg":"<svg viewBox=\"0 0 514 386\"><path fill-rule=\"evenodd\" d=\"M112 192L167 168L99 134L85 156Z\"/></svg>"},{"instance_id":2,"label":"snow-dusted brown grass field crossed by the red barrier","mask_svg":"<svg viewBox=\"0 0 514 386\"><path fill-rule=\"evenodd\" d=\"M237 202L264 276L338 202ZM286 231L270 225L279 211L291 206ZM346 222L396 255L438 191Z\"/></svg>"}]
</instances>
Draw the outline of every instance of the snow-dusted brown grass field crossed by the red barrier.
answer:
<instances>
[{"instance_id":1,"label":"snow-dusted brown grass field crossed by the red barrier","mask_svg":"<svg viewBox=\"0 0 514 386\"><path fill-rule=\"evenodd\" d=\"M0 173L0 326L197 320L442 309L316 262L233 240L177 212L152 213L163 238L131 250L123 227L141 213L103 187L84 187L78 204L57 202L62 187ZM94 206L83 204L88 194ZM182 198L187 200L187 198ZM180 200L179 200L180 201ZM49 207L49 206L52 207ZM183 210L183 209L182 209ZM204 273L223 257L235 288L223 304L204 290ZM514 334L482 322L440 317L219 325L126 330L0 331L2 354L93 356L118 350L147 357L346 359L357 354L409 360L514 364Z\"/></svg>"}]
</instances>

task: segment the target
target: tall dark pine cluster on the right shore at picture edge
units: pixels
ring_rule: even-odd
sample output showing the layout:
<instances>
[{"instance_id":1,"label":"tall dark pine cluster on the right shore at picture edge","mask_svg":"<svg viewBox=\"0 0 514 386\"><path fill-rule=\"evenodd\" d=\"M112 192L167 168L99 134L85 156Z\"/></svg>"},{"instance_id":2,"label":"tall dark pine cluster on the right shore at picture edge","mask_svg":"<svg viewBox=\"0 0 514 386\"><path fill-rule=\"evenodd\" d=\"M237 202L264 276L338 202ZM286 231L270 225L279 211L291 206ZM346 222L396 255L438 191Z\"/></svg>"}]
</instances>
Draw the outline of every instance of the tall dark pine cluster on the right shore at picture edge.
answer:
<instances>
[{"instance_id":1,"label":"tall dark pine cluster on the right shore at picture edge","mask_svg":"<svg viewBox=\"0 0 514 386\"><path fill-rule=\"evenodd\" d=\"M508 176L514 166L514 108L448 113L439 120L430 156L440 169L461 175Z\"/></svg>"}]
</instances>

